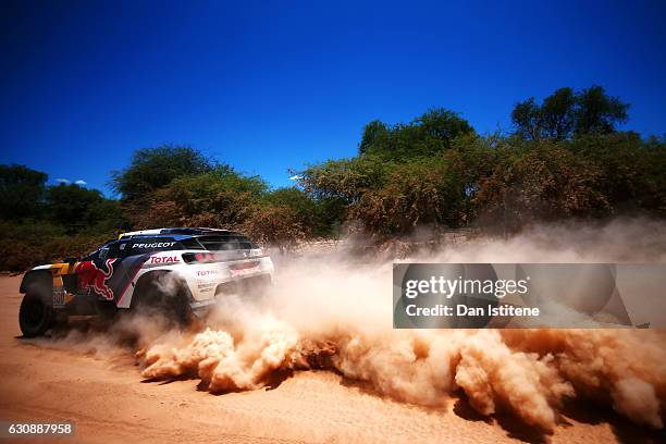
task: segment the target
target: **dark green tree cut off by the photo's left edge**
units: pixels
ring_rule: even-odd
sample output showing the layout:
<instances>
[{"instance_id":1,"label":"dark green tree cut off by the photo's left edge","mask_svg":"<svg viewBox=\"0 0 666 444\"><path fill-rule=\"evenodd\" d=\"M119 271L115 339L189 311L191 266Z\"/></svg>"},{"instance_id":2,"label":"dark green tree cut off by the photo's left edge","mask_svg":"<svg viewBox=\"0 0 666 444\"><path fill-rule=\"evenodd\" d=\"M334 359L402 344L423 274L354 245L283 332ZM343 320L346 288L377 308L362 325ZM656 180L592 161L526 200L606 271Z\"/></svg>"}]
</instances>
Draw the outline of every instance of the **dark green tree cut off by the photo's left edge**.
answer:
<instances>
[{"instance_id":1,"label":"dark green tree cut off by the photo's left edge","mask_svg":"<svg viewBox=\"0 0 666 444\"><path fill-rule=\"evenodd\" d=\"M0 164L0 218L39 218L47 175L24 165Z\"/></svg>"}]
</instances>

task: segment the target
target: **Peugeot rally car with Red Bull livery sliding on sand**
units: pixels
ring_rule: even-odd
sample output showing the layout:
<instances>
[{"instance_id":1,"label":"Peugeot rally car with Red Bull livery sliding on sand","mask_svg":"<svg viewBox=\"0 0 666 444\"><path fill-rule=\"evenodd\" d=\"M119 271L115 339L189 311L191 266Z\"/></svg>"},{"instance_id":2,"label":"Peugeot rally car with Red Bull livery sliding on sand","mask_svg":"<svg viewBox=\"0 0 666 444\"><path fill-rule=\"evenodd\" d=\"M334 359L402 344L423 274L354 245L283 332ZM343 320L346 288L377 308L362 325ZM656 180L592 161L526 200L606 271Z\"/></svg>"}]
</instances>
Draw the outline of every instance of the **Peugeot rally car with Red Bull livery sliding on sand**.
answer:
<instances>
[{"instance_id":1,"label":"Peugeot rally car with Red Bull livery sliding on sand","mask_svg":"<svg viewBox=\"0 0 666 444\"><path fill-rule=\"evenodd\" d=\"M158 308L177 321L203 314L225 295L259 295L273 262L239 233L157 229L123 233L83 259L35 267L21 282L24 336L44 334L69 316L110 316Z\"/></svg>"}]
</instances>

